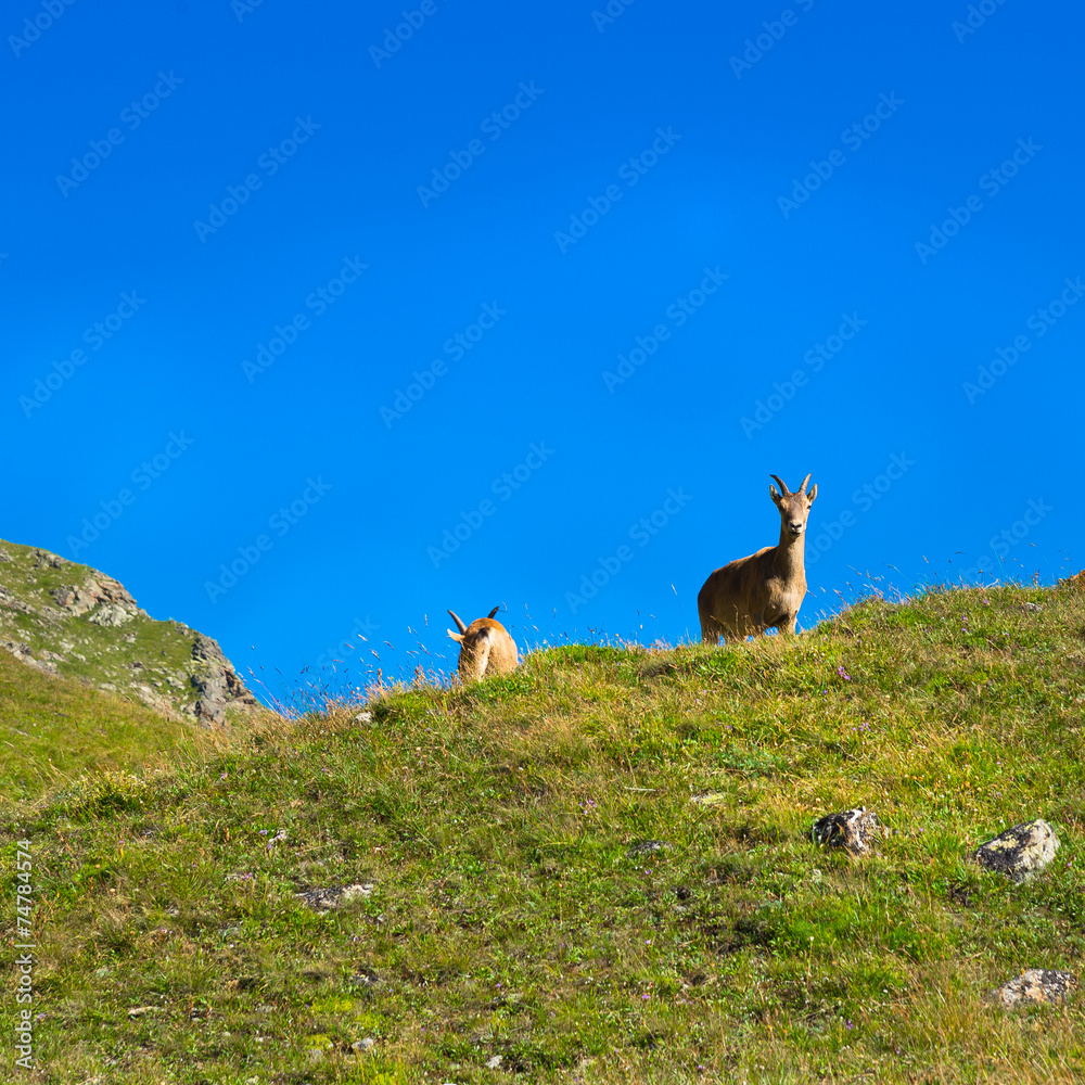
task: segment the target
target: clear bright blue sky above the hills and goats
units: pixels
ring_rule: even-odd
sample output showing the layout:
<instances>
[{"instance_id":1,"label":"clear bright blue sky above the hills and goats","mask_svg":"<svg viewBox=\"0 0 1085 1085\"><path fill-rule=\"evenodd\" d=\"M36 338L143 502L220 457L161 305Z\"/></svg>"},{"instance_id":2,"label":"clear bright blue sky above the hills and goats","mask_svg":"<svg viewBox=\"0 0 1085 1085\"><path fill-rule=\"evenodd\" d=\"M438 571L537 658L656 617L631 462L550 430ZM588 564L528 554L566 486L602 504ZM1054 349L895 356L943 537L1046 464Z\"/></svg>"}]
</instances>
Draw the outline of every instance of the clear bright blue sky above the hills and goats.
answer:
<instances>
[{"instance_id":1,"label":"clear bright blue sky above the hills and goats","mask_svg":"<svg viewBox=\"0 0 1085 1085\"><path fill-rule=\"evenodd\" d=\"M277 694L695 636L770 472L800 626L1080 566L1080 5L722 7L8 5L0 537Z\"/></svg>"}]
</instances>

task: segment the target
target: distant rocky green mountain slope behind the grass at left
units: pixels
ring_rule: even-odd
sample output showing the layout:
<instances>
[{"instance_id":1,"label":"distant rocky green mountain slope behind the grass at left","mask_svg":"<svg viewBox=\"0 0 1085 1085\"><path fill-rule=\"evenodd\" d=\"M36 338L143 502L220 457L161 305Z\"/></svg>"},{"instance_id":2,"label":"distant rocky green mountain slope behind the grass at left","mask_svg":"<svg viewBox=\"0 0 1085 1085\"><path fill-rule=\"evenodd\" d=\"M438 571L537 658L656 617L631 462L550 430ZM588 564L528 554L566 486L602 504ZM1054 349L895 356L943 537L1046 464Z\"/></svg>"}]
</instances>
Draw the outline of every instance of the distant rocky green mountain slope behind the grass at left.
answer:
<instances>
[{"instance_id":1,"label":"distant rocky green mountain slope behind the grass at left","mask_svg":"<svg viewBox=\"0 0 1085 1085\"><path fill-rule=\"evenodd\" d=\"M259 706L209 637L154 621L112 576L12 542L0 542L0 649L205 726Z\"/></svg>"}]
</instances>

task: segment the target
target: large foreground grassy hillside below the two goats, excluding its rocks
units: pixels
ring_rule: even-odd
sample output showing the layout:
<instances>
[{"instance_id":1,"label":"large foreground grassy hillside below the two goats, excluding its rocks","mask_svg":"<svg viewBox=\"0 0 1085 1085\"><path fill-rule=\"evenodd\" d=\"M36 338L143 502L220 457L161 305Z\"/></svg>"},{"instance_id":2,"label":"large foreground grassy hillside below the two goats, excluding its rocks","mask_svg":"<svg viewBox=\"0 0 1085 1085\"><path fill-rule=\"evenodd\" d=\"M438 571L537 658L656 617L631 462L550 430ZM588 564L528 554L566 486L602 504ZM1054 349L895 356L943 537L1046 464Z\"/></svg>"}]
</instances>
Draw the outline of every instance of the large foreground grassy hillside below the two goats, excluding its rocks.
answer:
<instances>
[{"instance_id":1,"label":"large foreground grassy hillside below the two goats, excluding its rocks","mask_svg":"<svg viewBox=\"0 0 1085 1085\"><path fill-rule=\"evenodd\" d=\"M1081 1081L1085 999L983 996L1081 970L1083 697L1081 592L936 591L43 780L3 852L11 886L33 841L36 1080ZM855 805L879 855L809 841ZM1034 817L1035 882L966 863Z\"/></svg>"}]
</instances>

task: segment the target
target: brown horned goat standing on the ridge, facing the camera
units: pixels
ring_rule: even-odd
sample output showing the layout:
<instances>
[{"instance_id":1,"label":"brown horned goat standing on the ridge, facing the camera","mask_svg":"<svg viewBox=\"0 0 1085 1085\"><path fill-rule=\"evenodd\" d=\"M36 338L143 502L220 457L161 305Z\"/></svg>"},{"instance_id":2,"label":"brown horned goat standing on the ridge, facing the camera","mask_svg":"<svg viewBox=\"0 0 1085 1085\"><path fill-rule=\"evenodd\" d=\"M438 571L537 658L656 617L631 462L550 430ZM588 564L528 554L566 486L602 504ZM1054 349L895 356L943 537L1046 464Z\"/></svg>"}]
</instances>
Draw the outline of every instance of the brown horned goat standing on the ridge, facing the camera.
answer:
<instances>
[{"instance_id":1,"label":"brown horned goat standing on the ridge, facing the camera","mask_svg":"<svg viewBox=\"0 0 1085 1085\"><path fill-rule=\"evenodd\" d=\"M776 486L768 487L768 496L780 511L780 541L717 569L704 582L697 610L701 640L706 644L718 644L722 636L729 641L760 637L768 628L795 631L806 595L806 518L817 497L817 484L807 494L807 475L792 494L777 475L769 477L780 487L779 494Z\"/></svg>"}]
</instances>

